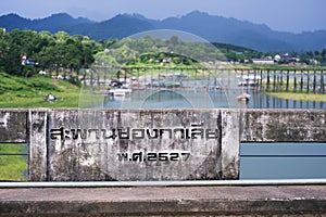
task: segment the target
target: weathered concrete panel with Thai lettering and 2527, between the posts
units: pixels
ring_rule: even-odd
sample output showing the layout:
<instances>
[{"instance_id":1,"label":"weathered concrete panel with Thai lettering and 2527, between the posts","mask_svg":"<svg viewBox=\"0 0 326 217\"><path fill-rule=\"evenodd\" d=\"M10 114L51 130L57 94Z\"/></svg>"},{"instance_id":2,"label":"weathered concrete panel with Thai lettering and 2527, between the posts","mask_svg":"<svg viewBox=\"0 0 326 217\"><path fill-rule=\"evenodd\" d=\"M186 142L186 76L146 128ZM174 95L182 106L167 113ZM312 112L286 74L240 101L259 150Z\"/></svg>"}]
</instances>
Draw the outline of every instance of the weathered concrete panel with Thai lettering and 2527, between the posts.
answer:
<instances>
[{"instance_id":1,"label":"weathered concrete panel with Thai lettering and 2527, between the posts","mask_svg":"<svg viewBox=\"0 0 326 217\"><path fill-rule=\"evenodd\" d=\"M50 113L50 180L221 179L220 111Z\"/></svg>"}]
</instances>

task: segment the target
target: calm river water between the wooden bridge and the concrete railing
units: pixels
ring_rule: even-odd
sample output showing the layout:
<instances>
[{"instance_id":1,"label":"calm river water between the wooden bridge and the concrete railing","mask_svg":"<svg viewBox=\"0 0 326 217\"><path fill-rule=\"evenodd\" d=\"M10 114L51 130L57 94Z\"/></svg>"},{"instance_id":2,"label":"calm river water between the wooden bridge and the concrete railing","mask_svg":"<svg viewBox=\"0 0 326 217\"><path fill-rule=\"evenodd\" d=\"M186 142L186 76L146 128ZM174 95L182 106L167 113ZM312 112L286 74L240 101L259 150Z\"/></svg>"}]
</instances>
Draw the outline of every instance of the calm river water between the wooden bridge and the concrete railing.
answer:
<instances>
[{"instance_id":1,"label":"calm river water between the wooden bridge and the concrete railing","mask_svg":"<svg viewBox=\"0 0 326 217\"><path fill-rule=\"evenodd\" d=\"M248 103L241 103L236 97L241 91L226 94L221 90L208 92L156 90L156 91L134 91L128 97L105 97L104 107L106 108L198 108L195 105L206 108L317 108L325 110L326 102L294 101L266 95L254 90L249 90L251 95ZM210 99L204 99L204 98ZM128 107L130 106L130 107Z\"/></svg>"}]
</instances>

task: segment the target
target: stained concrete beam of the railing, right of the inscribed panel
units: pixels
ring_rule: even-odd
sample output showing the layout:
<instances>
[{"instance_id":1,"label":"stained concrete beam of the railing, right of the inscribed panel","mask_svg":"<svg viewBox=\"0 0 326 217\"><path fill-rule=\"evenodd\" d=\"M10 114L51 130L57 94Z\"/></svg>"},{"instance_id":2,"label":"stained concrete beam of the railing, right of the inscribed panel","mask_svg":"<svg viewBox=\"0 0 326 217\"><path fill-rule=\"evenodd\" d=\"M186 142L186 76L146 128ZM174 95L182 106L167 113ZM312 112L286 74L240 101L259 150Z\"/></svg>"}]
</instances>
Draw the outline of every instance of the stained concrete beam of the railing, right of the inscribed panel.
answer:
<instances>
[{"instance_id":1,"label":"stained concrete beam of the railing, right of the inscribed panel","mask_svg":"<svg viewBox=\"0 0 326 217\"><path fill-rule=\"evenodd\" d=\"M326 142L324 110L244 110L242 142Z\"/></svg>"}]
</instances>

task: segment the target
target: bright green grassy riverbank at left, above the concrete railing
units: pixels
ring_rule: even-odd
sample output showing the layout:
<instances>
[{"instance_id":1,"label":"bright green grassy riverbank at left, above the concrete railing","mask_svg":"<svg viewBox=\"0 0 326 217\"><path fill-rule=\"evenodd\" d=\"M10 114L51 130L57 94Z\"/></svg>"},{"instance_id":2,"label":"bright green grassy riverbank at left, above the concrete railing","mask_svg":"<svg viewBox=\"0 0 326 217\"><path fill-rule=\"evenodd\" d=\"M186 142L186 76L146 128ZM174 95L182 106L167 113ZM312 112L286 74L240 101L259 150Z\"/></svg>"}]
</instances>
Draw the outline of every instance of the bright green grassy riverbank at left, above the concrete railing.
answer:
<instances>
[{"instance_id":1,"label":"bright green grassy riverbank at left, above the concrete railing","mask_svg":"<svg viewBox=\"0 0 326 217\"><path fill-rule=\"evenodd\" d=\"M54 94L59 100L48 102ZM78 107L79 88L66 80L45 76L25 78L0 72L0 107Z\"/></svg>"}]
</instances>

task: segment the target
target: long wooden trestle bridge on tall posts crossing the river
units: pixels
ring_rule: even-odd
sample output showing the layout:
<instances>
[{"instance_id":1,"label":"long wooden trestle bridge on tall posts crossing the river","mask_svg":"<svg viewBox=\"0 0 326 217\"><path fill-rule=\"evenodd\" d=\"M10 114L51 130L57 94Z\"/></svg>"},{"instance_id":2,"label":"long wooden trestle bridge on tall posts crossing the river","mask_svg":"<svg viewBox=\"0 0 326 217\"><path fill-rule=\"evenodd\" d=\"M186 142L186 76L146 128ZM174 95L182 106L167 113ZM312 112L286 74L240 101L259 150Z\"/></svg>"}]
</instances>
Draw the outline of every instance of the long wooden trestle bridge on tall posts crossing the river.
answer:
<instances>
[{"instance_id":1,"label":"long wooden trestle bridge on tall posts crossing the river","mask_svg":"<svg viewBox=\"0 0 326 217\"><path fill-rule=\"evenodd\" d=\"M134 78L148 84L160 80L164 75L185 75L178 80L209 80L212 86L221 87L218 79L229 77L234 82L247 88L255 87L260 91L294 91L325 94L325 78L323 69L243 69L243 68L166 68L166 67L95 67L84 73L83 80L89 85L104 85L112 79L127 80ZM162 78L161 78L162 79ZM217 80L216 80L217 79ZM177 80L177 79L175 79Z\"/></svg>"}]
</instances>

